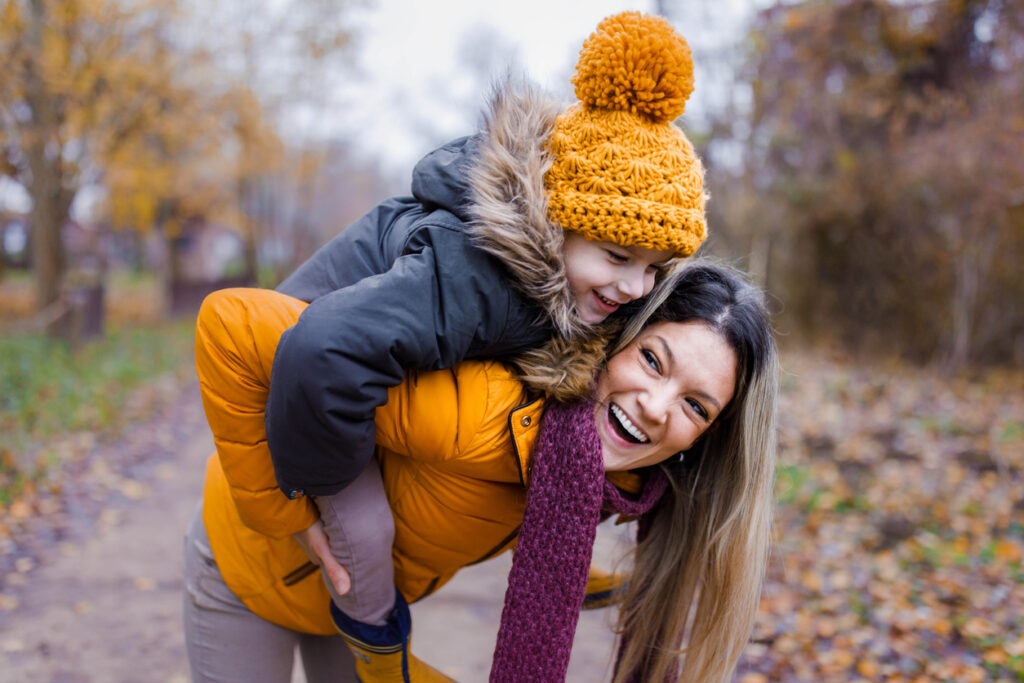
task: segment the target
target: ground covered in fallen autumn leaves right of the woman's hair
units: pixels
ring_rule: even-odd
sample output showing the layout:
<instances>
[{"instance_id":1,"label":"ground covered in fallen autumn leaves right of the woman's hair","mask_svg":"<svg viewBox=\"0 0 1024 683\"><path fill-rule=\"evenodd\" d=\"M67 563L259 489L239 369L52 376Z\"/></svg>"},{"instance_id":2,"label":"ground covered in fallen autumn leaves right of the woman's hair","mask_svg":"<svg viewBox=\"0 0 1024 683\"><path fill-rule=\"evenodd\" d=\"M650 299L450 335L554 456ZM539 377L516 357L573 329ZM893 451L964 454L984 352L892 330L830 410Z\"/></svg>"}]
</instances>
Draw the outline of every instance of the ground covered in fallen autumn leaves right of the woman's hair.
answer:
<instances>
[{"instance_id":1,"label":"ground covered in fallen autumn leaves right of the woman's hair","mask_svg":"<svg viewBox=\"0 0 1024 683\"><path fill-rule=\"evenodd\" d=\"M740 683L1024 680L1024 375L788 354Z\"/></svg>"}]
</instances>

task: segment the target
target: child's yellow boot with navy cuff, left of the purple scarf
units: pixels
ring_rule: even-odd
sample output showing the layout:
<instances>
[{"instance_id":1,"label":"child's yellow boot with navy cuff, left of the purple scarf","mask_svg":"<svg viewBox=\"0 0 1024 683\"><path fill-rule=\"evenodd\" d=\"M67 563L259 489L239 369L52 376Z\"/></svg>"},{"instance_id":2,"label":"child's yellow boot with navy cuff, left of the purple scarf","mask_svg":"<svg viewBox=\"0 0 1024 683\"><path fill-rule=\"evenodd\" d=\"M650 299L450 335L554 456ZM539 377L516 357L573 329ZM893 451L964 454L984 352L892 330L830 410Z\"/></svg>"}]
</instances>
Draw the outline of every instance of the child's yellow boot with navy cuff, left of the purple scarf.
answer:
<instances>
[{"instance_id":1,"label":"child's yellow boot with navy cuff, left of the purple scarf","mask_svg":"<svg viewBox=\"0 0 1024 683\"><path fill-rule=\"evenodd\" d=\"M356 622L333 601L331 617L355 657L355 675L361 683L455 683L409 651L413 621L406 599L397 591L384 626Z\"/></svg>"}]
</instances>

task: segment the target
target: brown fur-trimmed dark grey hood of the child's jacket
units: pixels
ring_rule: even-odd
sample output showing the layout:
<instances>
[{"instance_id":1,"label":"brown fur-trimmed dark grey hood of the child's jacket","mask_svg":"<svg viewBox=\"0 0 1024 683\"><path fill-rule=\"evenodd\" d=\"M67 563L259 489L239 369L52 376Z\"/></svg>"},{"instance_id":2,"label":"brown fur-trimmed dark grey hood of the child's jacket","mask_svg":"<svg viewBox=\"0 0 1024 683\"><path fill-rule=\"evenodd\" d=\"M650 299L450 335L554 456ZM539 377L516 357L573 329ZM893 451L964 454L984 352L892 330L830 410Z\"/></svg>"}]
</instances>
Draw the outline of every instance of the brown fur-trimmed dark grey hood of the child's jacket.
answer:
<instances>
[{"instance_id":1,"label":"brown fur-trimmed dark grey hood of the child's jacket","mask_svg":"<svg viewBox=\"0 0 1024 683\"><path fill-rule=\"evenodd\" d=\"M483 113L481 131L428 155L414 171L420 201L444 206L509 270L514 287L539 304L556 336L516 358L520 378L557 400L589 395L614 324L577 314L562 257L564 231L548 219L544 174L563 105L524 81L505 79Z\"/></svg>"}]
</instances>

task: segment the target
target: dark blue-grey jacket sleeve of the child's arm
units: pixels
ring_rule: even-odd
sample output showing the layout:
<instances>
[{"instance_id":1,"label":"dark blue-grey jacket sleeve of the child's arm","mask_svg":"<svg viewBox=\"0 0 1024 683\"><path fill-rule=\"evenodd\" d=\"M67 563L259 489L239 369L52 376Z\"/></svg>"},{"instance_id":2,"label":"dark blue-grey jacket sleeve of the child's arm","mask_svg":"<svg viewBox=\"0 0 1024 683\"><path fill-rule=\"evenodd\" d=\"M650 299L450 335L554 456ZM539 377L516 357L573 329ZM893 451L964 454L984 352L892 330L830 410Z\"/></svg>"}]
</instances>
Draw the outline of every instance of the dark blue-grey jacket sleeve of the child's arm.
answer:
<instances>
[{"instance_id":1,"label":"dark blue-grey jacket sleeve of the child's arm","mask_svg":"<svg viewBox=\"0 0 1024 683\"><path fill-rule=\"evenodd\" d=\"M511 291L461 230L416 232L392 267L316 299L281 338L266 429L278 483L315 496L373 456L374 413L409 370L451 368L507 327Z\"/></svg>"}]
</instances>

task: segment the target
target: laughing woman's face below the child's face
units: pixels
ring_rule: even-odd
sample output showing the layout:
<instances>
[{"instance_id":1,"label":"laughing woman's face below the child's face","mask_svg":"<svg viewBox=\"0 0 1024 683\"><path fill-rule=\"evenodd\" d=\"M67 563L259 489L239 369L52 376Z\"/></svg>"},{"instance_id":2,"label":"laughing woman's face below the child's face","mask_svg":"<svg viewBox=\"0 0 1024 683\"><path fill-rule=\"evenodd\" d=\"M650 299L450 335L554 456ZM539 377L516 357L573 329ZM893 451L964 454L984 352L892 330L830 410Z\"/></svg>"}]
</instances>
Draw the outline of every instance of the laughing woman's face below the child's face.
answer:
<instances>
[{"instance_id":1,"label":"laughing woman's face below the child's face","mask_svg":"<svg viewBox=\"0 0 1024 683\"><path fill-rule=\"evenodd\" d=\"M595 413L606 471L654 465L693 445L725 410L736 354L702 323L655 323L608 360Z\"/></svg>"}]
</instances>

